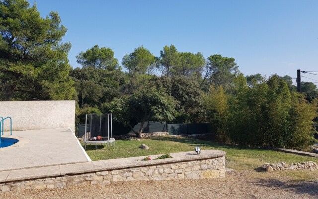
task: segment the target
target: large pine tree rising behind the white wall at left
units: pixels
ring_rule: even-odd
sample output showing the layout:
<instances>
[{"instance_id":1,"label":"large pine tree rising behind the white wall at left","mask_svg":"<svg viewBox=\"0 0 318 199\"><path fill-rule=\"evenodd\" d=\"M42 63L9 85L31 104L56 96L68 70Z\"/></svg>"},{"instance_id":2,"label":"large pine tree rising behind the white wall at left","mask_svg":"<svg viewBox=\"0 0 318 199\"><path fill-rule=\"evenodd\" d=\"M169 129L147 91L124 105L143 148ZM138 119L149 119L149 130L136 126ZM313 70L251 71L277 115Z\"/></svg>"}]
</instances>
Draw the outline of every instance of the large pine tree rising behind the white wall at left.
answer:
<instances>
[{"instance_id":1,"label":"large pine tree rising behind the white wall at left","mask_svg":"<svg viewBox=\"0 0 318 199\"><path fill-rule=\"evenodd\" d=\"M27 0L0 1L0 100L71 100L70 43L57 12L42 18Z\"/></svg>"}]
</instances>

